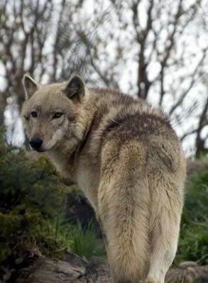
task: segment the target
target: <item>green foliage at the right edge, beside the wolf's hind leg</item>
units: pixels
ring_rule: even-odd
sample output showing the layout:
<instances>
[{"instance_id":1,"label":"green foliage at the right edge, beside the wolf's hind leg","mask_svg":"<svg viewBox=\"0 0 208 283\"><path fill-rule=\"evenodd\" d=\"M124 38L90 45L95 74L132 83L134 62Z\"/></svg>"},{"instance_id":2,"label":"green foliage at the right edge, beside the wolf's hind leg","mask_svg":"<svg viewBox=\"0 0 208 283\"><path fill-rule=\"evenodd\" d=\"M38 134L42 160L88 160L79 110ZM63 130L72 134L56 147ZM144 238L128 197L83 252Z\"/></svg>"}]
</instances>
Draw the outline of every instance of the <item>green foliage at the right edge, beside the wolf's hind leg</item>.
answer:
<instances>
[{"instance_id":1,"label":"green foliage at the right edge, beside the wolf's hind leg","mask_svg":"<svg viewBox=\"0 0 208 283\"><path fill-rule=\"evenodd\" d=\"M175 262L208 264L208 167L186 186L180 241Z\"/></svg>"}]
</instances>

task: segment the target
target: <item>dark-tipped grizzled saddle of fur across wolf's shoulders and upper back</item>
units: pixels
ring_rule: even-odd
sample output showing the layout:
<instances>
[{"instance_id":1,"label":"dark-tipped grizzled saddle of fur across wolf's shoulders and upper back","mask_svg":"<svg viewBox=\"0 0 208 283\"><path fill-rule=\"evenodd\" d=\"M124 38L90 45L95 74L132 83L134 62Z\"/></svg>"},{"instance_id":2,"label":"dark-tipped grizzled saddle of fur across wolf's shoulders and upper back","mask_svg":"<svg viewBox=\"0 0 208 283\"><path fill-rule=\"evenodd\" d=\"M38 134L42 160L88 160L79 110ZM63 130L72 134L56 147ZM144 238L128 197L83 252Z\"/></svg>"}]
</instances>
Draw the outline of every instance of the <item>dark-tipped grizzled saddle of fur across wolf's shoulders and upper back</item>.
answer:
<instances>
[{"instance_id":1,"label":"dark-tipped grizzled saddle of fur across wolf's shoulders and upper back","mask_svg":"<svg viewBox=\"0 0 208 283\"><path fill-rule=\"evenodd\" d=\"M148 147L154 140L177 140L168 117L147 101L111 89L90 91L93 116L81 149L93 160L99 160L106 145L135 141Z\"/></svg>"}]
</instances>

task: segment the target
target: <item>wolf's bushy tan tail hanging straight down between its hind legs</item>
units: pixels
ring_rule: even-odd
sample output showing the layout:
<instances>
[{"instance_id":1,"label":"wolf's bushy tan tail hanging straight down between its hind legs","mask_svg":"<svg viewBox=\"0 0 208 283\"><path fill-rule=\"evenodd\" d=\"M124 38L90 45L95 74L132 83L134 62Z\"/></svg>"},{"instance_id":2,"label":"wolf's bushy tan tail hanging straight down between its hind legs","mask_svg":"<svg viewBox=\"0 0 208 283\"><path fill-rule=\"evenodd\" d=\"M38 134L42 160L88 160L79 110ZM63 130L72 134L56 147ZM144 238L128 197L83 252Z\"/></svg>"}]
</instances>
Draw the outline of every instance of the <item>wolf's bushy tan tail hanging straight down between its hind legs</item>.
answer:
<instances>
[{"instance_id":1,"label":"wolf's bushy tan tail hanging straight down between its hind legs","mask_svg":"<svg viewBox=\"0 0 208 283\"><path fill-rule=\"evenodd\" d=\"M146 166L136 153L133 158L127 155L128 166L123 162L116 168L120 176L116 174L108 189L104 230L115 283L138 283L148 272L150 196Z\"/></svg>"}]
</instances>

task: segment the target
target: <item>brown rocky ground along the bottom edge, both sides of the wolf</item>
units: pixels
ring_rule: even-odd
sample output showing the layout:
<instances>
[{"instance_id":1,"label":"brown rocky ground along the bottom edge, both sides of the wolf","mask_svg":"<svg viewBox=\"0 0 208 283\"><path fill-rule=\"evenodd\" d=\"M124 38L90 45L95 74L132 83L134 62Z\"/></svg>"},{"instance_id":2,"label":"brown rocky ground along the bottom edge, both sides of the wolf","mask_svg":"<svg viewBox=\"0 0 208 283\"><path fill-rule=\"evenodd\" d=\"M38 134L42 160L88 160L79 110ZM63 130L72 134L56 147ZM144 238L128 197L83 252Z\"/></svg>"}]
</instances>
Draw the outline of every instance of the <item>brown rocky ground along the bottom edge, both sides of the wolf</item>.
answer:
<instances>
[{"instance_id":1,"label":"brown rocky ground along the bottom edge, both sides of the wolf","mask_svg":"<svg viewBox=\"0 0 208 283\"><path fill-rule=\"evenodd\" d=\"M16 259L16 267L4 268L0 283L111 283L107 263L97 257L83 260L72 253L65 253L63 260L30 255ZM208 265L182 262L177 269L170 269L166 283L208 282Z\"/></svg>"}]
</instances>

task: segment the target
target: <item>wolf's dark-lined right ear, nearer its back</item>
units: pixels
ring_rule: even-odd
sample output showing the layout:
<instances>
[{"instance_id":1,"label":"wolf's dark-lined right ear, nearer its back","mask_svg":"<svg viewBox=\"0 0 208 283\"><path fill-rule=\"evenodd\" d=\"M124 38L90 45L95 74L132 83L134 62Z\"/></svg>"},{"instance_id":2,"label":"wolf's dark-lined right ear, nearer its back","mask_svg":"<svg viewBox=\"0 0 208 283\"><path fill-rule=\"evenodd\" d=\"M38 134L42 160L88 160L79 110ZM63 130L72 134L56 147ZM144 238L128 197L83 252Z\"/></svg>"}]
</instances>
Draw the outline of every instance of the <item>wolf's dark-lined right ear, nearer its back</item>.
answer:
<instances>
[{"instance_id":1,"label":"wolf's dark-lined right ear, nearer its back","mask_svg":"<svg viewBox=\"0 0 208 283\"><path fill-rule=\"evenodd\" d=\"M80 76L75 74L68 82L65 93L69 99L80 99L85 94L84 81Z\"/></svg>"}]
</instances>

